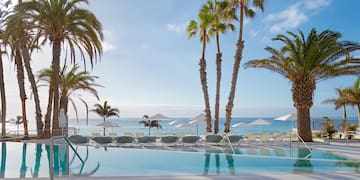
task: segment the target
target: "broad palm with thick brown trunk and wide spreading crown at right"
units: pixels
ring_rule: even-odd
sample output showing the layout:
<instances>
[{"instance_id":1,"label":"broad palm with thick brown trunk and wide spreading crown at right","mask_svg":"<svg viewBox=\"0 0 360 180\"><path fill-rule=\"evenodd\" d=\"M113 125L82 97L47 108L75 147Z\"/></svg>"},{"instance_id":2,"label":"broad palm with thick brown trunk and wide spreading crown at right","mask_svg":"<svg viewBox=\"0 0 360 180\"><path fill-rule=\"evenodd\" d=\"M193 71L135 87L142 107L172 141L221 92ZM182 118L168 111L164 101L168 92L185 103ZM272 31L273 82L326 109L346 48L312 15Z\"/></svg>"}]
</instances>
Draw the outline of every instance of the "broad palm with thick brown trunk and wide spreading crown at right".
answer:
<instances>
[{"instance_id":1,"label":"broad palm with thick brown trunk and wide spreading crown at right","mask_svg":"<svg viewBox=\"0 0 360 180\"><path fill-rule=\"evenodd\" d=\"M351 64L349 53L360 49L351 41L340 41L341 34L325 30L320 34L313 28L305 39L303 32L288 36L280 34L273 40L284 44L280 50L265 49L271 53L267 59L251 60L246 67L265 68L277 72L292 83L292 99L297 110L297 130L304 141L312 141L310 108L316 83L340 75L357 74L360 65Z\"/></svg>"}]
</instances>

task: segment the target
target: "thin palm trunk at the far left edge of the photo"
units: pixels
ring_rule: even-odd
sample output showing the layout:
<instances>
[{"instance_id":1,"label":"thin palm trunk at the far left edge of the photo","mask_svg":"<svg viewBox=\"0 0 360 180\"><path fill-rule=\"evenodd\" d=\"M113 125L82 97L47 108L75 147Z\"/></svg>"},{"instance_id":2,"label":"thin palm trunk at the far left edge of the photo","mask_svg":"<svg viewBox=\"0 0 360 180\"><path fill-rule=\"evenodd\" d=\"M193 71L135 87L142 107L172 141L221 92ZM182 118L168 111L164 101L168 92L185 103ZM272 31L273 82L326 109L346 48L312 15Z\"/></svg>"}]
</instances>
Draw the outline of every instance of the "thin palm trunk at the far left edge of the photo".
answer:
<instances>
[{"instance_id":1,"label":"thin palm trunk at the far left edge of the photo","mask_svg":"<svg viewBox=\"0 0 360 180\"><path fill-rule=\"evenodd\" d=\"M6 136L6 97L4 83L4 68L2 63L2 53L0 45L0 96L1 96L1 136Z\"/></svg>"}]
</instances>

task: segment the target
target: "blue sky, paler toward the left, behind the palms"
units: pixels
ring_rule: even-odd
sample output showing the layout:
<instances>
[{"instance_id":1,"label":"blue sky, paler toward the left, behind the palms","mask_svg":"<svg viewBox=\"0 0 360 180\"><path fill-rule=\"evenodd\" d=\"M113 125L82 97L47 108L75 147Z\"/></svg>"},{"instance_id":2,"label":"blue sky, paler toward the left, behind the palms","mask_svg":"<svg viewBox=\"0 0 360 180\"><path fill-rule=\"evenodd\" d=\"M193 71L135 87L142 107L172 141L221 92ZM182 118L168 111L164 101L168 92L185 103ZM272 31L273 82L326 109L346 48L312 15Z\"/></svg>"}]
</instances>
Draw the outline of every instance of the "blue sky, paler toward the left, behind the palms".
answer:
<instances>
[{"instance_id":1,"label":"blue sky, paler toward the left, behind the palms","mask_svg":"<svg viewBox=\"0 0 360 180\"><path fill-rule=\"evenodd\" d=\"M100 101L86 92L79 92L90 108L105 100L119 108L120 117L137 117L163 113L169 117L193 117L204 110L198 62L202 44L199 37L188 38L186 25L196 19L205 0L91 0L87 7L103 25L105 39L101 60L91 69L98 76ZM291 98L291 84L282 76L265 69L244 69L243 63L269 57L266 46L280 47L271 39L287 31L305 34L312 28L318 32L331 29L342 33L342 40L360 42L360 1L348 0L265 0L264 13L257 11L254 19L245 19L243 52L233 108L233 117L276 117L296 112ZM238 24L234 32L220 36L223 53L220 116L225 116L229 94ZM64 55L65 52L62 52ZM215 104L215 41L207 45L207 78L211 112ZM353 54L360 56L359 52ZM32 57L33 70L49 67L51 49L44 47ZM64 56L62 56L64 59ZM83 66L82 62L79 64ZM4 75L8 118L21 114L15 67L6 57ZM338 77L317 84L312 117L341 117L342 111L322 101L334 98L335 88L349 87L356 77ZM35 108L30 98L30 84L25 85L29 101L27 114L34 120ZM46 113L47 91L40 88L43 115ZM80 118L85 108L80 101ZM348 108L349 116L356 110ZM94 113L89 114L96 118ZM70 118L75 117L69 109Z\"/></svg>"}]
</instances>

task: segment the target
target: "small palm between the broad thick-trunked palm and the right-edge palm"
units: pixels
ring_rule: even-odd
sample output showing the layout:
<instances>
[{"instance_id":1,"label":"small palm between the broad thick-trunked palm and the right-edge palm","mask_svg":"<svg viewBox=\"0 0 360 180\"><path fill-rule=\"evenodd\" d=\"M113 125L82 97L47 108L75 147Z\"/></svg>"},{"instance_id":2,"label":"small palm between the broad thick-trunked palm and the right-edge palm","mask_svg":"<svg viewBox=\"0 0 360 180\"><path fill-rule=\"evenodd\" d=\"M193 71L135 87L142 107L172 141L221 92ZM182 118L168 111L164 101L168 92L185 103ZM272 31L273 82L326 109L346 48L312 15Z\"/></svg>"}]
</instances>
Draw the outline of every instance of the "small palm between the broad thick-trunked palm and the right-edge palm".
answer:
<instances>
[{"instance_id":1,"label":"small palm between the broad thick-trunked palm and the right-edge palm","mask_svg":"<svg viewBox=\"0 0 360 180\"><path fill-rule=\"evenodd\" d=\"M324 103L328 104L334 104L335 110L338 110L339 108L343 108L344 114L343 114L343 132L346 132L346 120L347 120L347 113L346 113L346 105L349 103L349 97L345 91L345 89L336 88L336 94L337 97L333 99L328 99L323 101Z\"/></svg>"}]
</instances>

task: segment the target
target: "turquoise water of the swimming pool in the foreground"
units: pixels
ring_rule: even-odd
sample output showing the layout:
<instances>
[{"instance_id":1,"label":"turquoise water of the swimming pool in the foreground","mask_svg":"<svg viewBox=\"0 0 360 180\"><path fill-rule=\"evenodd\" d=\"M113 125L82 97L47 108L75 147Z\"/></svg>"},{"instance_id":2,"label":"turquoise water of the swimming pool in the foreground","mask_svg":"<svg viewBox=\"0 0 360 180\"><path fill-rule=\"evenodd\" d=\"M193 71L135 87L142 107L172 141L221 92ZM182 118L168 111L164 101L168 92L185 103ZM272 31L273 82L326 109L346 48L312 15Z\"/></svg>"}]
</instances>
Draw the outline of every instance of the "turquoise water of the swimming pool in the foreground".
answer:
<instances>
[{"instance_id":1,"label":"turquoise water of the swimming pool in the foreground","mask_svg":"<svg viewBox=\"0 0 360 180\"><path fill-rule=\"evenodd\" d=\"M49 146L43 144L0 143L0 178L49 177ZM360 163L324 151L266 148L205 152L160 151L115 147L76 147L82 164L66 146L54 147L54 174L70 176L165 176L241 175L244 173L360 173ZM290 157L290 155L292 157Z\"/></svg>"}]
</instances>

